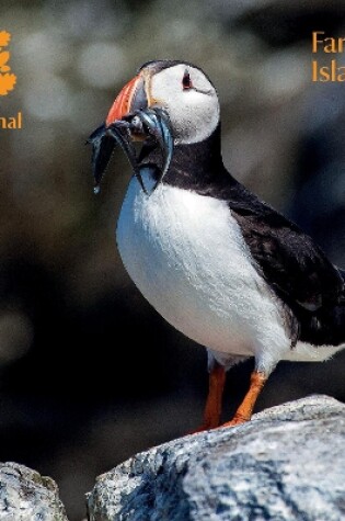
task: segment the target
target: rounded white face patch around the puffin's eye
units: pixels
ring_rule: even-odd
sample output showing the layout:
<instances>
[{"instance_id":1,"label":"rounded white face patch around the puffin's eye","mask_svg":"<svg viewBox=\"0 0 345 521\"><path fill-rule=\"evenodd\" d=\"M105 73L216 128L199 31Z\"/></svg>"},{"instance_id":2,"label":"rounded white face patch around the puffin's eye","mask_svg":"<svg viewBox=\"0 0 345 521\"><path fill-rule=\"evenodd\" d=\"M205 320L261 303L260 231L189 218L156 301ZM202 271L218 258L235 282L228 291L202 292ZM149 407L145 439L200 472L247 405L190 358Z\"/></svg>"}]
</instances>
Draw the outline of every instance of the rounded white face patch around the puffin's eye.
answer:
<instances>
[{"instance_id":1,"label":"rounded white face patch around the puffin's eye","mask_svg":"<svg viewBox=\"0 0 345 521\"><path fill-rule=\"evenodd\" d=\"M186 66L181 64L152 78L151 94L169 113L175 144L199 143L209 137L219 123L216 90L198 69L188 66L193 86L183 89ZM202 91L202 92L199 92Z\"/></svg>"}]
</instances>

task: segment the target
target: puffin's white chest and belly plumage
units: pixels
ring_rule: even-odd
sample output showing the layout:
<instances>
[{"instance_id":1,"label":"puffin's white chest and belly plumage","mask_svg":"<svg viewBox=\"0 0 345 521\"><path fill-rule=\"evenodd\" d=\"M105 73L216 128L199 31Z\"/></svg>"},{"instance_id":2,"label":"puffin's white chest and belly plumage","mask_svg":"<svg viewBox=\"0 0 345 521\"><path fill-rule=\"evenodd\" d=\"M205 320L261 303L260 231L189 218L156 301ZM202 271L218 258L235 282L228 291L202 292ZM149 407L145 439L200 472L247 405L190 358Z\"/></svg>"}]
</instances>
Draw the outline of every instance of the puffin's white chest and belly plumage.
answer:
<instances>
[{"instance_id":1,"label":"puffin's white chest and belly plumage","mask_svg":"<svg viewBox=\"0 0 345 521\"><path fill-rule=\"evenodd\" d=\"M148 185L149 171L143 179ZM117 245L143 296L187 337L215 351L254 354L268 335L288 349L276 302L225 202L163 184L147 196L133 179Z\"/></svg>"}]
</instances>

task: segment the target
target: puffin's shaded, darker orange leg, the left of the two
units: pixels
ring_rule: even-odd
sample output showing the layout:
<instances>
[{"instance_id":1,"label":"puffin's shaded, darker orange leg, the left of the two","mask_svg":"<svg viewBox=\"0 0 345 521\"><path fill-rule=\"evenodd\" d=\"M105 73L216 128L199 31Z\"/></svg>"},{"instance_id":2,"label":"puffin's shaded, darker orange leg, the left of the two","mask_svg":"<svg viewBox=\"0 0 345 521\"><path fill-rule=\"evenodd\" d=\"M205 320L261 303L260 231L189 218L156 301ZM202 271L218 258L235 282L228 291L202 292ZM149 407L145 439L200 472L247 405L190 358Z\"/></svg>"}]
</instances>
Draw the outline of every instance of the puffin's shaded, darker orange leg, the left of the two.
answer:
<instances>
[{"instance_id":1,"label":"puffin's shaded, darker orange leg, the left of the two","mask_svg":"<svg viewBox=\"0 0 345 521\"><path fill-rule=\"evenodd\" d=\"M193 431L202 432L214 429L220 424L221 398L226 383L226 370L222 365L215 363L209 373L208 396L204 410L204 421L198 429Z\"/></svg>"}]
</instances>

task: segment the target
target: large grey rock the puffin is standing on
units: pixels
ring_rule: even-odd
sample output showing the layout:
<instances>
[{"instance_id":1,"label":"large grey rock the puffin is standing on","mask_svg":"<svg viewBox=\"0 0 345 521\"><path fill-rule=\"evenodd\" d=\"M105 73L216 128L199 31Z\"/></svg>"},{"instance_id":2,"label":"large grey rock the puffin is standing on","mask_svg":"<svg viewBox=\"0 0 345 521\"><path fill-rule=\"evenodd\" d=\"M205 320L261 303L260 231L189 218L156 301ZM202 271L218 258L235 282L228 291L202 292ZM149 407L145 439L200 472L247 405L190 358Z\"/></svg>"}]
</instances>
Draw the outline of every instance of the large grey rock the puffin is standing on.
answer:
<instances>
[{"instance_id":1,"label":"large grey rock the puffin is standing on","mask_svg":"<svg viewBox=\"0 0 345 521\"><path fill-rule=\"evenodd\" d=\"M341 521L345 406L311 396L153 448L99 476L88 507L90 521Z\"/></svg>"}]
</instances>

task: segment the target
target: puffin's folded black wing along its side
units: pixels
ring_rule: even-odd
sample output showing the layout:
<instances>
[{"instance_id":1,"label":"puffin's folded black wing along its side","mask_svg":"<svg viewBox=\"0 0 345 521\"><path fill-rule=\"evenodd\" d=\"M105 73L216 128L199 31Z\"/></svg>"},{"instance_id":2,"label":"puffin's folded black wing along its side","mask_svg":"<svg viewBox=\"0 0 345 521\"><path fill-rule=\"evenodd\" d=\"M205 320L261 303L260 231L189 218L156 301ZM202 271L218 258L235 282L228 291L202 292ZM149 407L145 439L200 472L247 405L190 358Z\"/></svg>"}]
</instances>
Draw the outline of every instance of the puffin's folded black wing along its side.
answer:
<instances>
[{"instance_id":1,"label":"puffin's folded black wing along its side","mask_svg":"<svg viewBox=\"0 0 345 521\"><path fill-rule=\"evenodd\" d=\"M262 275L292 309L338 304L340 271L298 226L249 193L229 206Z\"/></svg>"}]
</instances>

